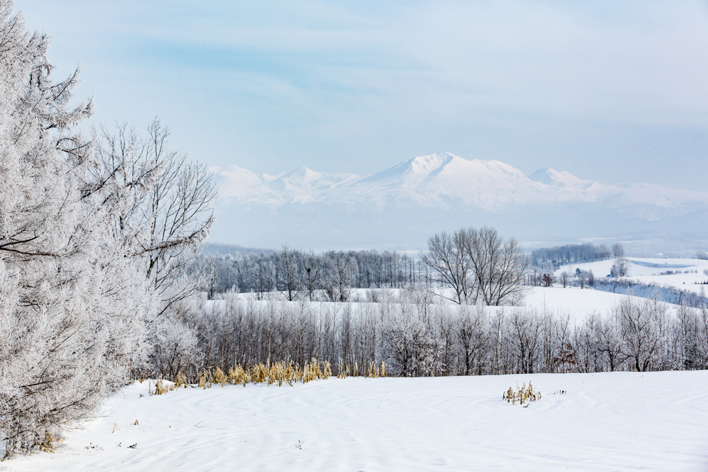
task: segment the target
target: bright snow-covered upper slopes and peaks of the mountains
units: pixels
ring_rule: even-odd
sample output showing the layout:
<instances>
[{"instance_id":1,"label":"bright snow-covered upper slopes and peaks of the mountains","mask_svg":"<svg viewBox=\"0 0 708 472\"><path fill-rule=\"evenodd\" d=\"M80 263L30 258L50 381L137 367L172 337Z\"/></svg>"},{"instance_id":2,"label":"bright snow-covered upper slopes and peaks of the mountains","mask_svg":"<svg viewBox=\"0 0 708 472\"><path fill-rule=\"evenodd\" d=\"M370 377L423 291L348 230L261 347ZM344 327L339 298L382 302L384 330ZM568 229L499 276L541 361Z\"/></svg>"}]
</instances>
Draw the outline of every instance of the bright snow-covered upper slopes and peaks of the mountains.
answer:
<instances>
[{"instance_id":1,"label":"bright snow-covered upper slopes and peaks of the mountains","mask_svg":"<svg viewBox=\"0 0 708 472\"><path fill-rule=\"evenodd\" d=\"M264 174L260 178L236 166L210 170L216 174L219 198L240 203L270 203L275 194L285 204L302 200L297 197L304 190L315 192L308 202L361 202L372 198L374 193L379 201L381 195L416 195L418 200L430 203L440 195L452 195L485 209L600 200L608 200L615 206L645 204L662 208L708 202L708 192L645 183L608 185L553 169L542 169L527 177L500 161L467 160L447 152L418 156L363 177L315 172L304 167L277 177ZM648 212L647 208L641 211Z\"/></svg>"}]
</instances>

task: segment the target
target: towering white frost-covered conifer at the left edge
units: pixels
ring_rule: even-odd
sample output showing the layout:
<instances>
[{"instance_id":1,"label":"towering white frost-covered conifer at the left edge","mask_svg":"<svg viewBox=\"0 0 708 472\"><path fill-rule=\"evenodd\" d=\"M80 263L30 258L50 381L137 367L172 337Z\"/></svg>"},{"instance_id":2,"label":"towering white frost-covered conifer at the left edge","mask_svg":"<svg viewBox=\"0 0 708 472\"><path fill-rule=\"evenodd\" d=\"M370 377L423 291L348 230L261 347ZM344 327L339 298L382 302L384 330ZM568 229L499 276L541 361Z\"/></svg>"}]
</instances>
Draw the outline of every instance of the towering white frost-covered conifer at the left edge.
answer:
<instances>
[{"instance_id":1,"label":"towering white frost-covered conifer at the left edge","mask_svg":"<svg viewBox=\"0 0 708 472\"><path fill-rule=\"evenodd\" d=\"M0 439L31 450L95 410L140 355L150 299L105 207L84 198L95 165L69 108L78 71L52 80L46 35L0 0Z\"/></svg>"}]
</instances>

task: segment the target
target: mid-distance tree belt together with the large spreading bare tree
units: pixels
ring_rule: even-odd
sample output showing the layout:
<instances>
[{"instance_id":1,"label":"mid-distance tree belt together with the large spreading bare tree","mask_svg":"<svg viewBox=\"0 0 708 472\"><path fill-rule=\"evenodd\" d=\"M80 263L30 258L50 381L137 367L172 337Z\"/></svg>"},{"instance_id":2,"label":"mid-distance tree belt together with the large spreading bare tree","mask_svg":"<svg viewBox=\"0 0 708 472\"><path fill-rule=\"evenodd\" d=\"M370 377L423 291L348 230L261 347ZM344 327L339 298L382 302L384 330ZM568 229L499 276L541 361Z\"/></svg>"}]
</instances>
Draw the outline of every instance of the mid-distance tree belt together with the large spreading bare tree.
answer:
<instances>
[{"instance_id":1,"label":"mid-distance tree belt together with the large spreading bare tree","mask_svg":"<svg viewBox=\"0 0 708 472\"><path fill-rule=\"evenodd\" d=\"M329 251L315 254L287 246L260 255L201 255L191 271L207 274L209 298L229 290L263 299L282 292L288 300L348 301L357 288L403 288L411 284L452 287L459 304L517 304L523 298L530 259L514 238L493 228L443 231L428 239L420 258L396 251ZM445 292L441 292L445 293Z\"/></svg>"}]
</instances>

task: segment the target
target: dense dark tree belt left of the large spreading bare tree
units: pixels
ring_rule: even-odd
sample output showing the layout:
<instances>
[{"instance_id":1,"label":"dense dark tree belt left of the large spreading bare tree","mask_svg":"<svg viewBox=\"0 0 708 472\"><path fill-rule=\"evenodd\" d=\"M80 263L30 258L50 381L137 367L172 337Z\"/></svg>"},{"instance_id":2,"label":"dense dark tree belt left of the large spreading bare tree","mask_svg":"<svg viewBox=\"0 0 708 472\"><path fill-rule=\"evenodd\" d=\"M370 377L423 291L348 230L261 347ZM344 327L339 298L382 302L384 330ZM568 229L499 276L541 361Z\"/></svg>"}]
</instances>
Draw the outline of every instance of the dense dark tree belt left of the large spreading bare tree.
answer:
<instances>
[{"instance_id":1,"label":"dense dark tree belt left of the large spreading bare tree","mask_svg":"<svg viewBox=\"0 0 708 472\"><path fill-rule=\"evenodd\" d=\"M397 289L430 280L420 258L396 251L314 253L287 246L267 253L202 253L190 272L203 275L209 298L235 290L259 299L277 291L288 300L348 301L353 289Z\"/></svg>"}]
</instances>

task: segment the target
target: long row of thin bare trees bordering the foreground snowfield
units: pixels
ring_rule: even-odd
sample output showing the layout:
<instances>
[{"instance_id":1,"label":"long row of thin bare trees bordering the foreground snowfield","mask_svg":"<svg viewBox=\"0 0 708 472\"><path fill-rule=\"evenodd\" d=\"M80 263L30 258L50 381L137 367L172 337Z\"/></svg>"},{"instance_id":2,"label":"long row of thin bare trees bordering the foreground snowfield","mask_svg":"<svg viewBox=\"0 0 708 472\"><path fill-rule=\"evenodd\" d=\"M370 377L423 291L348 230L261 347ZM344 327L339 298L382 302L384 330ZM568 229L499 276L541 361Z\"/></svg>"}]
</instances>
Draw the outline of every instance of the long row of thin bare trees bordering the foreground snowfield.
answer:
<instances>
[{"instance_id":1,"label":"long row of thin bare trees bordering the foreground snowfield","mask_svg":"<svg viewBox=\"0 0 708 472\"><path fill-rule=\"evenodd\" d=\"M379 303L202 300L166 330L158 363L171 377L200 369L318 359L396 376L610 372L708 367L708 309L626 297L573 323L523 307L435 303L426 290L379 291ZM178 348L177 348L178 347ZM175 355L178 353L178 355Z\"/></svg>"}]
</instances>

